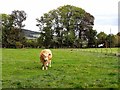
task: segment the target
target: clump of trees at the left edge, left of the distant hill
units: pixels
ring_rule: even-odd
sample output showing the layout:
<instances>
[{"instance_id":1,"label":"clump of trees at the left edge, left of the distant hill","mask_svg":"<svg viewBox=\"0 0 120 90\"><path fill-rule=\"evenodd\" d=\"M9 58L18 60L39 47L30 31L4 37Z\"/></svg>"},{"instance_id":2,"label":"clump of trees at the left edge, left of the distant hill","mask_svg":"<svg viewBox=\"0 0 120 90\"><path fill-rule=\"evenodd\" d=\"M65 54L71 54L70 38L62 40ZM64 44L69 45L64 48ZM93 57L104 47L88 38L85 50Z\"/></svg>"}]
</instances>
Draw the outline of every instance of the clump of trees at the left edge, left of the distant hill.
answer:
<instances>
[{"instance_id":1,"label":"clump of trees at the left edge, left of the distant hill","mask_svg":"<svg viewBox=\"0 0 120 90\"><path fill-rule=\"evenodd\" d=\"M22 33L23 21L26 20L24 11L15 10L11 14L1 14L2 17L2 45L3 47L17 47L25 42ZM19 45L18 45L19 44Z\"/></svg>"}]
</instances>

